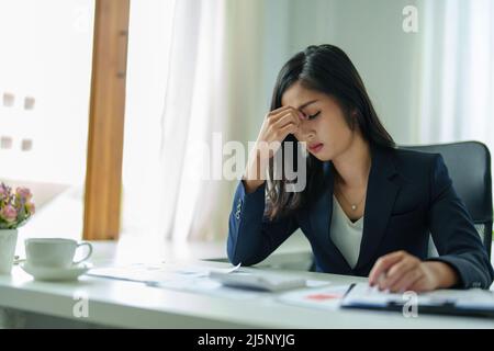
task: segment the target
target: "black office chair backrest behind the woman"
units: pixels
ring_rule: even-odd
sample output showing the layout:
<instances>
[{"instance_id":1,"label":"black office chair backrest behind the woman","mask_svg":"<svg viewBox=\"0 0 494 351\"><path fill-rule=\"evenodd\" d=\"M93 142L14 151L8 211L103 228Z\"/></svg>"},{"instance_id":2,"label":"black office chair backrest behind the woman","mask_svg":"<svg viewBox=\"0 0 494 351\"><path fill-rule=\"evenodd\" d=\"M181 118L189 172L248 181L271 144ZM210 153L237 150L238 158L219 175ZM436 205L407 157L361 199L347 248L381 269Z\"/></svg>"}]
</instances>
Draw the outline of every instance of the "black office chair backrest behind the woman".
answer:
<instances>
[{"instance_id":1,"label":"black office chair backrest behind the woman","mask_svg":"<svg viewBox=\"0 0 494 351\"><path fill-rule=\"evenodd\" d=\"M453 186L472 216L491 258L493 205L491 154L487 146L479 141L461 141L400 148L441 154Z\"/></svg>"}]
</instances>

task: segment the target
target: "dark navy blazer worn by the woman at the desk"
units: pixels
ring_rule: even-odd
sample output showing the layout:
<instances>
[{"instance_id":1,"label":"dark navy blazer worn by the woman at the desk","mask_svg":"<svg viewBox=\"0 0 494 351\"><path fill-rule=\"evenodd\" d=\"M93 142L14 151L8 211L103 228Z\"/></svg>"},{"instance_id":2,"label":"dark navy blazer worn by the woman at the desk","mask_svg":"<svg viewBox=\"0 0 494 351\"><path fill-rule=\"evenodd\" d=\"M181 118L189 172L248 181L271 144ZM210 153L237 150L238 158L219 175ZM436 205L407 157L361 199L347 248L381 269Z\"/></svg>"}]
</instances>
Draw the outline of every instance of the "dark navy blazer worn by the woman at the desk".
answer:
<instances>
[{"instance_id":1,"label":"dark navy blazer worn by the woman at the desk","mask_svg":"<svg viewBox=\"0 0 494 351\"><path fill-rule=\"evenodd\" d=\"M233 264L256 264L293 231L307 237L318 272L368 276L375 261L405 250L422 259L450 264L457 287L491 285L494 272L470 214L457 195L439 154L371 148L360 256L352 269L330 239L333 162L324 162L327 186L311 205L291 216L265 216L265 189L247 194L240 181L235 192L227 239ZM428 258L429 235L439 252Z\"/></svg>"}]
</instances>

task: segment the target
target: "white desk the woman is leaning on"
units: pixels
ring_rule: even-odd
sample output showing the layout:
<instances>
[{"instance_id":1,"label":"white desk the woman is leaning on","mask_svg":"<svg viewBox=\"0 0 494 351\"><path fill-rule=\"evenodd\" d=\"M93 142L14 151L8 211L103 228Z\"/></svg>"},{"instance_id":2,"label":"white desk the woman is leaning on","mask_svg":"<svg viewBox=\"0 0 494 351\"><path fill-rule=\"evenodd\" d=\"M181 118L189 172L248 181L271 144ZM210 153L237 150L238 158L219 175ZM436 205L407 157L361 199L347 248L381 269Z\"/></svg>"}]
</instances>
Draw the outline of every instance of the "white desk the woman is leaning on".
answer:
<instances>
[{"instance_id":1,"label":"white desk the woman is leaning on","mask_svg":"<svg viewBox=\"0 0 494 351\"><path fill-rule=\"evenodd\" d=\"M93 263L98 264L98 257L103 262L102 252L108 253L111 248L112 245L97 246ZM204 264L229 267L227 263L211 261ZM333 283L364 281L362 278L322 273L296 274ZM76 298L81 296L89 298L87 318L76 318L72 313ZM36 282L19 267L14 267L11 276L0 276L0 305L9 313L23 312L16 315L18 321L34 327L494 328L494 320L484 318L430 315L405 318L398 313L311 309L282 304L269 294L262 298L240 301L91 276L82 276L78 282L70 283ZM30 322L30 318L37 321Z\"/></svg>"}]
</instances>

